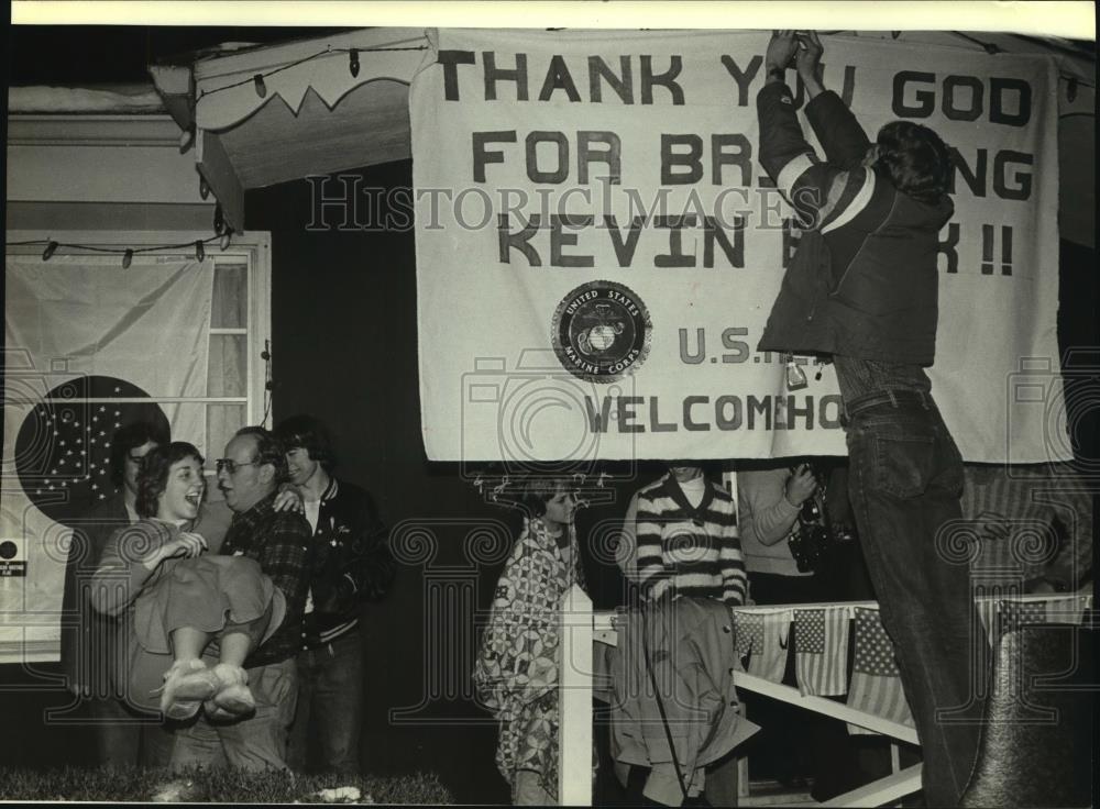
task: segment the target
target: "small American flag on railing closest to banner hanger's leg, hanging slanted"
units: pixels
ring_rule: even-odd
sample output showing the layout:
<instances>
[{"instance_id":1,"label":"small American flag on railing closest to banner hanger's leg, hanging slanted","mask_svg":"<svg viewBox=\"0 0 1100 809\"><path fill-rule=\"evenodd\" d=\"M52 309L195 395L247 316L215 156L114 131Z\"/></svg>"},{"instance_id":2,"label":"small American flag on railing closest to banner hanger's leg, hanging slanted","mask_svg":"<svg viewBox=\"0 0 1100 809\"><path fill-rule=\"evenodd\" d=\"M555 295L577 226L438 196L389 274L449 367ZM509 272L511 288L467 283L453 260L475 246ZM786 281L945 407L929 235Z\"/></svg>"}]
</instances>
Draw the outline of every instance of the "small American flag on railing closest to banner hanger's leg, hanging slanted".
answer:
<instances>
[{"instance_id":1,"label":"small American flag on railing closest to banner hanger's leg, hanging slanted","mask_svg":"<svg viewBox=\"0 0 1100 809\"><path fill-rule=\"evenodd\" d=\"M913 724L913 713L901 686L893 642L882 628L879 611L856 607L856 654L851 663L848 707L893 722ZM855 724L849 733L873 733Z\"/></svg>"}]
</instances>

